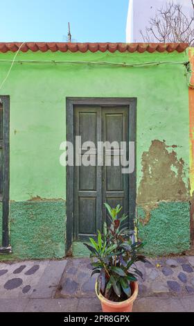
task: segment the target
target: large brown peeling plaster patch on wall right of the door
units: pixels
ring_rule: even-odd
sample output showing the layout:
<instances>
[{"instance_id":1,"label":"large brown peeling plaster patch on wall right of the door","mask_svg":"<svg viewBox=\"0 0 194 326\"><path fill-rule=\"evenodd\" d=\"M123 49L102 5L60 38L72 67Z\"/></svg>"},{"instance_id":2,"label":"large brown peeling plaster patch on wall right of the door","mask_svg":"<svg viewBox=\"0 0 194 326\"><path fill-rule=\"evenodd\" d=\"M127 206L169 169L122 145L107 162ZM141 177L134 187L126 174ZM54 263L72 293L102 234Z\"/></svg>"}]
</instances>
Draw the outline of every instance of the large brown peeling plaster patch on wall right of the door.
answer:
<instances>
[{"instance_id":1,"label":"large brown peeling plaster patch on wall right of the door","mask_svg":"<svg viewBox=\"0 0 194 326\"><path fill-rule=\"evenodd\" d=\"M177 159L175 151L169 153L164 141L153 140L149 151L143 153L142 172L138 204L155 205L160 200L188 200L189 189L183 180L184 161L182 158Z\"/></svg>"}]
</instances>

